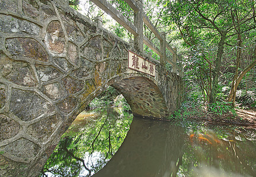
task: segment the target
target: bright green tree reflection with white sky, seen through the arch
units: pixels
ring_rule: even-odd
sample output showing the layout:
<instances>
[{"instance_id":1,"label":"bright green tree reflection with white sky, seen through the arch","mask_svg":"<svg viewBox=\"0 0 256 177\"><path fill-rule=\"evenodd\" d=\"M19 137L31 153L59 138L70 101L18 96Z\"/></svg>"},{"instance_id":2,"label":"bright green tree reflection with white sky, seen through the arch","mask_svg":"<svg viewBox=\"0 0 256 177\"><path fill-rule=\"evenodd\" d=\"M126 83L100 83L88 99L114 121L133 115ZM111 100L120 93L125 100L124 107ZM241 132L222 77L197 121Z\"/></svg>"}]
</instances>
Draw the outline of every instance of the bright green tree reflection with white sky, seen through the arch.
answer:
<instances>
[{"instance_id":1,"label":"bright green tree reflection with white sky, seen through the arch","mask_svg":"<svg viewBox=\"0 0 256 177\"><path fill-rule=\"evenodd\" d=\"M75 120L41 176L91 176L116 153L129 130L132 114L103 108L97 112L97 117Z\"/></svg>"}]
</instances>

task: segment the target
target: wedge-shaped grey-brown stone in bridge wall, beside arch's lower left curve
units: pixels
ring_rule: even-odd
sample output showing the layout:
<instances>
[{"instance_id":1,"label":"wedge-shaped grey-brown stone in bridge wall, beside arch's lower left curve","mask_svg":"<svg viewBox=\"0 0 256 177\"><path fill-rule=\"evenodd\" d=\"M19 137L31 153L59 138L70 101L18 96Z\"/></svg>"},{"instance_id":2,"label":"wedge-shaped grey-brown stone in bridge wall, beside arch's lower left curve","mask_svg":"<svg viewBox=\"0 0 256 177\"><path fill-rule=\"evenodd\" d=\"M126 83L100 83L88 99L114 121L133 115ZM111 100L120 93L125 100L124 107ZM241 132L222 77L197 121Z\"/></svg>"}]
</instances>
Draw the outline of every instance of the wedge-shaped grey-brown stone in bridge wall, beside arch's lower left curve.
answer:
<instances>
[{"instance_id":1,"label":"wedge-shaped grey-brown stone in bridge wall, beside arch's lower left curve","mask_svg":"<svg viewBox=\"0 0 256 177\"><path fill-rule=\"evenodd\" d=\"M60 124L61 120L62 119L59 114L47 117L40 122L28 126L27 133L33 137L36 137L40 141L46 141L57 129L57 126Z\"/></svg>"}]
</instances>

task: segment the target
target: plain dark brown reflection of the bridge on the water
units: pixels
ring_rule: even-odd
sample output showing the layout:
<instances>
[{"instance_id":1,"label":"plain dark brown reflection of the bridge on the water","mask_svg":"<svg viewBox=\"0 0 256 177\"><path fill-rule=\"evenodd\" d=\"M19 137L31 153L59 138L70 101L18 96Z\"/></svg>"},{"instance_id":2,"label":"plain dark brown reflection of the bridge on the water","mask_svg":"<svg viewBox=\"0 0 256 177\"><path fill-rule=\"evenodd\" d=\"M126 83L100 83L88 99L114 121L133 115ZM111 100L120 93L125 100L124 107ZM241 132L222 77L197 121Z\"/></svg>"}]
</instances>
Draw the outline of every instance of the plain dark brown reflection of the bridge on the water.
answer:
<instances>
[{"instance_id":1,"label":"plain dark brown reflection of the bridge on the water","mask_svg":"<svg viewBox=\"0 0 256 177\"><path fill-rule=\"evenodd\" d=\"M169 122L134 117L120 149L94 176L175 176L183 136L184 130Z\"/></svg>"}]
</instances>

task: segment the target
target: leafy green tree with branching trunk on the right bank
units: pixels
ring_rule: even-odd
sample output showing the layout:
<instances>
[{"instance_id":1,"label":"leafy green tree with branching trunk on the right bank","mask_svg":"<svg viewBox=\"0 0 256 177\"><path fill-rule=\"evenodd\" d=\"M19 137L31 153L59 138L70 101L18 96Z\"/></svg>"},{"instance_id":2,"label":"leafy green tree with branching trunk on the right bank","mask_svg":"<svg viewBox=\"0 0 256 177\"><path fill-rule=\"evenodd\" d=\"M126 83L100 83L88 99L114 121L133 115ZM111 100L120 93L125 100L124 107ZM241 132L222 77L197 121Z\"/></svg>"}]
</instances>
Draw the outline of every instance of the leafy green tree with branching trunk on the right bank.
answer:
<instances>
[{"instance_id":1,"label":"leafy green tree with branching trunk on the right bank","mask_svg":"<svg viewBox=\"0 0 256 177\"><path fill-rule=\"evenodd\" d=\"M232 39L234 35L241 38L245 32L256 27L254 1L167 0L162 3L164 5L163 22L176 25L185 45L196 51L200 64L193 63L199 64L195 66L199 71L198 74L194 73L199 78L198 83L202 91L205 90L207 93L209 102L215 103L222 55L225 53L225 47L230 45L227 41L234 42ZM239 46L242 44L241 40L238 39L236 42L238 42L237 48L241 48ZM202 43L205 45L201 45ZM214 57L207 55L207 52L212 52ZM240 49L236 57L238 65L241 60L239 55L241 56ZM252 65L248 69L252 68Z\"/></svg>"}]
</instances>

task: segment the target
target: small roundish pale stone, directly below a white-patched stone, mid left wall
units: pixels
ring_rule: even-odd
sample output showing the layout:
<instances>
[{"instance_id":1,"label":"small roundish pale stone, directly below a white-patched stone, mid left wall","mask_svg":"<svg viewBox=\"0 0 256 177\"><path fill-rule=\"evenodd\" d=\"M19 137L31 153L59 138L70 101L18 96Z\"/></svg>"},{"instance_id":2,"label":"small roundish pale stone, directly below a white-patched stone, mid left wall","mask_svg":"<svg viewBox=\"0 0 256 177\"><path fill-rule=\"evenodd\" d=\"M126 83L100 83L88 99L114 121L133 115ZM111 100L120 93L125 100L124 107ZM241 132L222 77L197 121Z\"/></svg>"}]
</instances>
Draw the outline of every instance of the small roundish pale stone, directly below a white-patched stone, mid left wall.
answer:
<instances>
[{"instance_id":1,"label":"small roundish pale stone, directly below a white-patched stone, mid left wall","mask_svg":"<svg viewBox=\"0 0 256 177\"><path fill-rule=\"evenodd\" d=\"M42 87L41 91L52 100L61 99L65 95L65 90L59 83L47 84Z\"/></svg>"}]
</instances>

